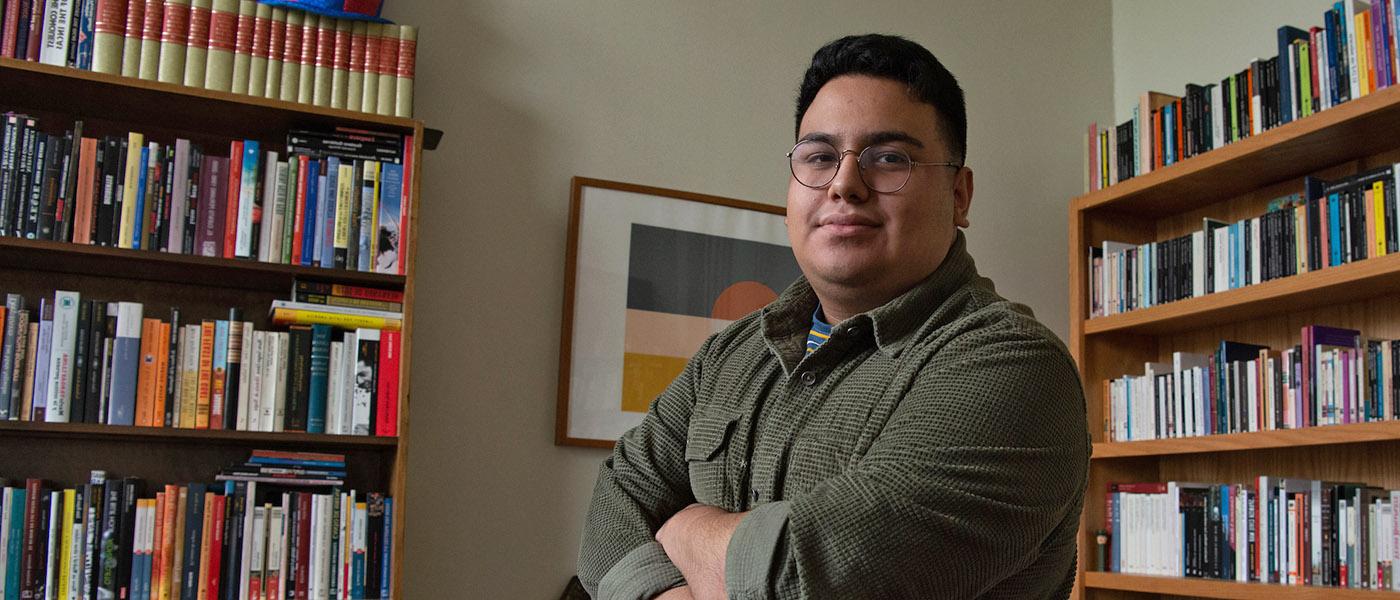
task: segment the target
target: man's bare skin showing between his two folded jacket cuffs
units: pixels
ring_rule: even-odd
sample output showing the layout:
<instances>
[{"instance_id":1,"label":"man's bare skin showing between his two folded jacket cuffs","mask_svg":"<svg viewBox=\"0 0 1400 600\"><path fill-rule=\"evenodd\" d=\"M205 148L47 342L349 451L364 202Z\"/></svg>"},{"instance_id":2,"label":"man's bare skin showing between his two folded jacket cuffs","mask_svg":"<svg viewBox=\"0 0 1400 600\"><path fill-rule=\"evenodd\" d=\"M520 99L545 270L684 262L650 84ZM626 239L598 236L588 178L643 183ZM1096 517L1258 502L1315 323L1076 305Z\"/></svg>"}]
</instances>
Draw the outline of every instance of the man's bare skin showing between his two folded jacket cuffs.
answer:
<instances>
[{"instance_id":1,"label":"man's bare skin showing between his two folded jacket cuffs","mask_svg":"<svg viewBox=\"0 0 1400 600\"><path fill-rule=\"evenodd\" d=\"M724 599L724 555L748 513L693 503L668 519L657 541L685 575L696 600Z\"/></svg>"}]
</instances>

